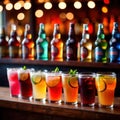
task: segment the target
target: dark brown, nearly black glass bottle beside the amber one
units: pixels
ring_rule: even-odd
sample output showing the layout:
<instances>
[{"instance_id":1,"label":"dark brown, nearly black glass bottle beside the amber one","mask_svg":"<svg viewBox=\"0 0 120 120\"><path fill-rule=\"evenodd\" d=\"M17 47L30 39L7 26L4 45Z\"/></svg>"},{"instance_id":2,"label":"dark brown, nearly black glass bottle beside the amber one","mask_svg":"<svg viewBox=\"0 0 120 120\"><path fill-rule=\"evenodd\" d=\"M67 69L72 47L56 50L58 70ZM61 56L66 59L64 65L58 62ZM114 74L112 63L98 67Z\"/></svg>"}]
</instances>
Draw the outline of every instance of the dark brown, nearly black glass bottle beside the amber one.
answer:
<instances>
[{"instance_id":1,"label":"dark brown, nearly black glass bottle beside the amber one","mask_svg":"<svg viewBox=\"0 0 120 120\"><path fill-rule=\"evenodd\" d=\"M66 41L66 60L77 60L78 42L75 36L74 23L69 24L68 39Z\"/></svg>"}]
</instances>

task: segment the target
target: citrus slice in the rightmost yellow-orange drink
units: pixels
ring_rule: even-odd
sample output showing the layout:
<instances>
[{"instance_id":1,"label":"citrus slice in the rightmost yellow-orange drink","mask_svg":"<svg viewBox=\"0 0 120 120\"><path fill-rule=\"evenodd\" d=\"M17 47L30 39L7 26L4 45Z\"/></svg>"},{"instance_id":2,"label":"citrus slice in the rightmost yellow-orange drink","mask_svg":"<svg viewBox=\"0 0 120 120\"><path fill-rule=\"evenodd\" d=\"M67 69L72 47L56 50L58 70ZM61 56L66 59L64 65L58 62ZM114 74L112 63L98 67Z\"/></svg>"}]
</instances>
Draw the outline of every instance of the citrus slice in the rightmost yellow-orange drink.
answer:
<instances>
[{"instance_id":1,"label":"citrus slice in the rightmost yellow-orange drink","mask_svg":"<svg viewBox=\"0 0 120 120\"><path fill-rule=\"evenodd\" d=\"M97 82L98 82L97 83L98 91L99 92L104 92L107 88L107 84L106 84L104 78L100 77Z\"/></svg>"}]
</instances>

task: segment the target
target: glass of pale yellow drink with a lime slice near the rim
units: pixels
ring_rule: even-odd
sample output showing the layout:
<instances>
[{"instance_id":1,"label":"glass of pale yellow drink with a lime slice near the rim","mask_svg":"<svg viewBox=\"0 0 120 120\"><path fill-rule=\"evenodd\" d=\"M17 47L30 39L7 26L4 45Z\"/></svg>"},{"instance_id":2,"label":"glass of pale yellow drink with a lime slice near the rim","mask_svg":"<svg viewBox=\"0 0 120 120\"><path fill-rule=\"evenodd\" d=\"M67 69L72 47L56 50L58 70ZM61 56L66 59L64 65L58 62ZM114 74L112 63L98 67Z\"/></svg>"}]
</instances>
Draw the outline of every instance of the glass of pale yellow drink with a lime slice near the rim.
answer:
<instances>
[{"instance_id":1,"label":"glass of pale yellow drink with a lime slice near the rim","mask_svg":"<svg viewBox=\"0 0 120 120\"><path fill-rule=\"evenodd\" d=\"M45 73L42 71L32 71L30 72L32 88L33 88L33 98L36 101L46 100L46 80Z\"/></svg>"}]
</instances>

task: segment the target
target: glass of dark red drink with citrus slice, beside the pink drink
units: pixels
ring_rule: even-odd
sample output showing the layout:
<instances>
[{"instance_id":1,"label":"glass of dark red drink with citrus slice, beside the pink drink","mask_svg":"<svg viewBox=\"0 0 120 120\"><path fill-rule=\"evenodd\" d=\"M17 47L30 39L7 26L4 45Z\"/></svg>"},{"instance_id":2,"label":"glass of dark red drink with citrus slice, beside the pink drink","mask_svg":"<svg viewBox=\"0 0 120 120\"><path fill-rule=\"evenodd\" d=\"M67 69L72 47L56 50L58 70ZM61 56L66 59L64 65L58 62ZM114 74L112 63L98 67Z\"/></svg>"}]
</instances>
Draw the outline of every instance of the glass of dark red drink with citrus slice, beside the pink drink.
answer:
<instances>
[{"instance_id":1,"label":"glass of dark red drink with citrus slice, beside the pink drink","mask_svg":"<svg viewBox=\"0 0 120 120\"><path fill-rule=\"evenodd\" d=\"M32 83L30 80L30 71L33 69L19 69L18 80L20 82L20 95L23 99L32 98Z\"/></svg>"}]
</instances>

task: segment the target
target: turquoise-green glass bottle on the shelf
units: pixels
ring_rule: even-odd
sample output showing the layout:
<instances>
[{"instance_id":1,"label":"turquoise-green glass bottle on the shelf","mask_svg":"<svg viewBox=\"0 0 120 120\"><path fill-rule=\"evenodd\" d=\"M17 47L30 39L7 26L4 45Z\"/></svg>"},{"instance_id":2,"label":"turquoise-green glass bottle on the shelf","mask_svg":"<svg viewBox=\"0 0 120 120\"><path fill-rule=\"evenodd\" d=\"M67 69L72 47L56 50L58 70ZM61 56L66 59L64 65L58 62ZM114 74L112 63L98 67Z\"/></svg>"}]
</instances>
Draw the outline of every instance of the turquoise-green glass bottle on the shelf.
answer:
<instances>
[{"instance_id":1,"label":"turquoise-green glass bottle on the shelf","mask_svg":"<svg viewBox=\"0 0 120 120\"><path fill-rule=\"evenodd\" d=\"M36 40L36 56L38 60L48 60L48 41L43 23L39 24L38 38Z\"/></svg>"}]
</instances>

